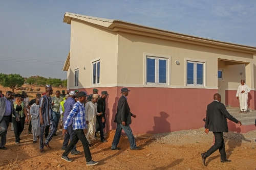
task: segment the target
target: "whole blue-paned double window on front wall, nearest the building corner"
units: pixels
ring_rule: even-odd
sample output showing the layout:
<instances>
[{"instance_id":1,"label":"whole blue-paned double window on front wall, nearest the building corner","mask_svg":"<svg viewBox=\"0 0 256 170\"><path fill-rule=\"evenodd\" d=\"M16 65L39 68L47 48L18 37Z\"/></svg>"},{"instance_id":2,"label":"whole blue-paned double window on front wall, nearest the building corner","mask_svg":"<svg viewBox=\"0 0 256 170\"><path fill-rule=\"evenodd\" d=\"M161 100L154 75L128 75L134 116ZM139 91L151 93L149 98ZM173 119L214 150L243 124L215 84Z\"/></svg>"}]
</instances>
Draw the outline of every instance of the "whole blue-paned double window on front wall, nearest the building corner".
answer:
<instances>
[{"instance_id":1,"label":"whole blue-paned double window on front wall, nearest the building corner","mask_svg":"<svg viewBox=\"0 0 256 170\"><path fill-rule=\"evenodd\" d=\"M167 84L167 60L159 57L146 57L147 84Z\"/></svg>"}]
</instances>

